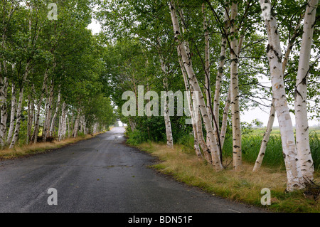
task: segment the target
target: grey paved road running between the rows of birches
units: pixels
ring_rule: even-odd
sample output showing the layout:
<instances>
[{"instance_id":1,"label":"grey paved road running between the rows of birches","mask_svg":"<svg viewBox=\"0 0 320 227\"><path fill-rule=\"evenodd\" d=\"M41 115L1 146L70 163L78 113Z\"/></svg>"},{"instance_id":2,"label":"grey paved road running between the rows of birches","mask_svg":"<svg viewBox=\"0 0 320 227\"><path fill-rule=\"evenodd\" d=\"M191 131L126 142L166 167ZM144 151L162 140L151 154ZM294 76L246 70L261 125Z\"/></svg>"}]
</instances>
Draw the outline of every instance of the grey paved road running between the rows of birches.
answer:
<instances>
[{"instance_id":1,"label":"grey paved road running between the rows of birches","mask_svg":"<svg viewBox=\"0 0 320 227\"><path fill-rule=\"evenodd\" d=\"M260 212L156 173L114 128L47 154L0 162L0 212ZM48 189L58 205L48 205Z\"/></svg>"}]
</instances>

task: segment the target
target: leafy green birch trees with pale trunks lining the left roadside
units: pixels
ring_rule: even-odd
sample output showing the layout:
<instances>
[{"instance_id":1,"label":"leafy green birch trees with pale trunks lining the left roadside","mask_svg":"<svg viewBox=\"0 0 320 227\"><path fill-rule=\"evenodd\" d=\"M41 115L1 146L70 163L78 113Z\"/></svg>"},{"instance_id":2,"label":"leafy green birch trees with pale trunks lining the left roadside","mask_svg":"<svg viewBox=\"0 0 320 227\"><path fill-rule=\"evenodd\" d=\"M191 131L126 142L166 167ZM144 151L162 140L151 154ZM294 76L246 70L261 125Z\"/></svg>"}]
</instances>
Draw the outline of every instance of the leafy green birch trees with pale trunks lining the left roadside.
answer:
<instances>
[{"instance_id":1,"label":"leafy green birch trees with pale trunks lining the left roadside","mask_svg":"<svg viewBox=\"0 0 320 227\"><path fill-rule=\"evenodd\" d=\"M44 5L40 3L24 6L20 1L1 1L1 12L3 13L1 15L3 33L0 47L1 148L14 147L21 135L23 138L26 137L23 144L31 144L39 140L46 142L48 137L61 140L66 137L77 137L79 132L96 133L105 127L98 120L93 122L91 120L90 124L87 124L85 110L90 107L85 107L83 104L85 102L83 96L70 97L72 94L68 95L68 92L63 92L63 89L65 90L68 86L74 86L73 90L78 89L75 93L80 94L80 88L76 88L76 83L70 83L69 79L68 85L65 80L67 75L63 70L66 67L61 58L65 59L66 52L70 53L70 50L64 49L63 53L56 51L58 46L64 44L58 40L66 36L67 31L65 30L68 29L67 23L70 21L60 21L65 27L61 24L58 26L59 23L56 21L48 21L47 9L43 7ZM23 23L18 21L19 17ZM58 28L62 30L57 31ZM81 28L87 31L85 25ZM50 32L52 32L50 34L51 38L53 37L52 40L46 39L46 33ZM90 31L87 33L92 36ZM25 41L23 43L12 41L18 36L25 38ZM77 43L78 38L75 36L73 43ZM45 41L47 43L43 45ZM71 48L78 49L77 46L71 46ZM13 58L15 51L26 57ZM48 61L49 63L44 60L37 61L37 53L47 53L53 56L53 60ZM71 49L71 53L76 52ZM81 57L78 55L75 58ZM57 58L60 58L60 61ZM60 73L57 73L58 70ZM86 80L86 83L90 81ZM26 124L26 130L23 124ZM26 132L21 133L21 125ZM41 139L38 138L39 136Z\"/></svg>"}]
</instances>

